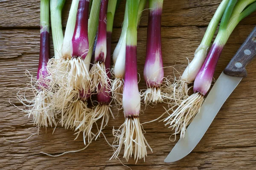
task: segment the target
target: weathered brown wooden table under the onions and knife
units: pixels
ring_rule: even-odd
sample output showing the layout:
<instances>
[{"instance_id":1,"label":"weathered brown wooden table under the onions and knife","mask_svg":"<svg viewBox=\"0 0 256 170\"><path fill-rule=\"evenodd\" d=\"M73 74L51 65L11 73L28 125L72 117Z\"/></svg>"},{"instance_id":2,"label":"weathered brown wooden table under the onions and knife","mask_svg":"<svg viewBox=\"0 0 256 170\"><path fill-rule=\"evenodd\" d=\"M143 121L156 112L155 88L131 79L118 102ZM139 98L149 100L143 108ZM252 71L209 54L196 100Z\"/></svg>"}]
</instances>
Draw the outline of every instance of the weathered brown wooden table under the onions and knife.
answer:
<instances>
[{"instance_id":1,"label":"weathered brown wooden table under the onions and knife","mask_svg":"<svg viewBox=\"0 0 256 170\"><path fill-rule=\"evenodd\" d=\"M195 49L201 42L207 25L221 0L165 0L162 17L162 44L164 66L175 66L182 72L191 61ZM66 26L71 1L67 0L63 10L63 26ZM125 2L120 3L116 11L112 50L121 32ZM148 11L143 17L138 30L138 72L143 77L145 62L146 31ZM13 141L26 139L37 130L32 119L9 103L22 107L15 95L18 88L26 86L29 79L25 71L36 74L39 57L40 39L40 1L36 0L1 0L0 1L0 169L85 169L85 170L126 170L118 160L109 158L113 150L102 137L78 153L60 157L49 157L39 153L44 151L59 154L68 150L84 147L83 139L73 141L72 130L57 127L54 135L52 128L41 128L39 135L20 143ZM256 13L245 18L231 34L219 59L215 79L236 53L247 35L256 26ZM51 56L53 47L51 42ZM143 125L145 138L153 148L148 157L133 159L128 163L121 161L133 170L196 170L196 169L255 169L256 166L256 61L247 66L248 77L244 78L227 102L221 108L203 139L188 156L174 163L163 160L176 142L170 142L172 132L164 127L163 122ZM172 68L165 69L165 75L172 75ZM145 88L141 79L140 89ZM140 121L156 119L166 105L148 108L141 115ZM117 111L113 109L115 115ZM122 113L115 120L111 119L104 129L108 141L112 142L112 128L122 125ZM120 155L121 158L122 155Z\"/></svg>"}]
</instances>

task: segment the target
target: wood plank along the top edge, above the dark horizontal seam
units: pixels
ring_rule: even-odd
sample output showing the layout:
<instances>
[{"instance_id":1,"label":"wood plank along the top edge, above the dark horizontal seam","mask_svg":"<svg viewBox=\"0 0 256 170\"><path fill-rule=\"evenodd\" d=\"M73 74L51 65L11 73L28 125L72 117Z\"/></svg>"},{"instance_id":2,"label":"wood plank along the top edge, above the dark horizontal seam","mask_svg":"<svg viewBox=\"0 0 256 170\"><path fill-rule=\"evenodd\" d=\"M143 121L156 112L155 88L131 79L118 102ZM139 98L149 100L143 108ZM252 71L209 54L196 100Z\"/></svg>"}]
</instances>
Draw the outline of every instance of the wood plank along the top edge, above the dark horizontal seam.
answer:
<instances>
[{"instance_id":1,"label":"wood plank along the top edge, above the dark horizontal seam","mask_svg":"<svg viewBox=\"0 0 256 170\"><path fill-rule=\"evenodd\" d=\"M207 26L221 0L180 0L175 3L164 1L162 26ZM63 9L63 26L67 24L71 0L66 0ZM0 1L0 28L39 28L40 0L4 0ZM146 6L148 8L148 5ZM120 28L124 17L125 1L121 1L115 14L114 27ZM143 11L140 26L147 26L148 11ZM11 19L10 19L11 18ZM241 24L256 24L256 13L250 15Z\"/></svg>"}]
</instances>

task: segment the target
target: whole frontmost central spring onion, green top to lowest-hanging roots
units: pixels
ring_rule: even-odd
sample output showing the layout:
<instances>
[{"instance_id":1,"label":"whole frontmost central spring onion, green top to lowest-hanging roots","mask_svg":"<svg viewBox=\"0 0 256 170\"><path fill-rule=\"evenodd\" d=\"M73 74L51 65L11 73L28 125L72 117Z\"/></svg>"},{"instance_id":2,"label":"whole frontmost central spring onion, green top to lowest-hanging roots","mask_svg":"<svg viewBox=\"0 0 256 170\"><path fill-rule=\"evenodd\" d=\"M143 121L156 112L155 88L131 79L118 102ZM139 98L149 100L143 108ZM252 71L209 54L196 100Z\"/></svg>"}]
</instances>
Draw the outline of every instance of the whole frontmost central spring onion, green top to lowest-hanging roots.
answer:
<instances>
[{"instance_id":1,"label":"whole frontmost central spring onion, green top to lowest-hanging roots","mask_svg":"<svg viewBox=\"0 0 256 170\"><path fill-rule=\"evenodd\" d=\"M137 80L137 14L138 0L127 0L128 27L126 31L125 50L125 82L123 90L123 109L125 122L118 130L113 130L115 136L114 143L118 148L113 153L111 159L117 159L124 144L124 158L128 161L134 155L136 162L147 156L148 145L142 127L140 125L140 92Z\"/></svg>"}]
</instances>

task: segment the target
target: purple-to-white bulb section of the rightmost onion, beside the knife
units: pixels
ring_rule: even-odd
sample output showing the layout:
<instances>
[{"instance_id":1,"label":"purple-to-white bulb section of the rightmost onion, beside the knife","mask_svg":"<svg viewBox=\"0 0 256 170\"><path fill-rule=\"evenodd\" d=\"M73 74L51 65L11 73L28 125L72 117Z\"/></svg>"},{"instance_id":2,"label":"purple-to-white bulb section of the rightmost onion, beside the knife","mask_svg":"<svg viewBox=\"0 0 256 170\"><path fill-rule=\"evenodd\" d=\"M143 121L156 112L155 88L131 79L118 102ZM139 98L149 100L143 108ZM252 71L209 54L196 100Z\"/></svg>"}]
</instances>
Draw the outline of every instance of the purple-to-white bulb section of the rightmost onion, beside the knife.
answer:
<instances>
[{"instance_id":1,"label":"purple-to-white bulb section of the rightmost onion, beside the knife","mask_svg":"<svg viewBox=\"0 0 256 170\"><path fill-rule=\"evenodd\" d=\"M223 45L213 44L194 82L194 93L207 94Z\"/></svg>"}]
</instances>

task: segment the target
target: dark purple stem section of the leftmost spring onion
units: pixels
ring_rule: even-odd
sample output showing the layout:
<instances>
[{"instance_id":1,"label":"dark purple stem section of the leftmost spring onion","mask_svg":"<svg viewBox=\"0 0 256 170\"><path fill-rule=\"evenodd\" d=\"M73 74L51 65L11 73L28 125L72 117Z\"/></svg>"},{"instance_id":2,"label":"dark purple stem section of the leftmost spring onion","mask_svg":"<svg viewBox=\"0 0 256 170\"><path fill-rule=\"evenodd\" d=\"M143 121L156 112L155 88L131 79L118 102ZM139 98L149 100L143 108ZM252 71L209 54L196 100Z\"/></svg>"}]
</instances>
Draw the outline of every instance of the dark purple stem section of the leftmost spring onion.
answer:
<instances>
[{"instance_id":1,"label":"dark purple stem section of the leftmost spring onion","mask_svg":"<svg viewBox=\"0 0 256 170\"><path fill-rule=\"evenodd\" d=\"M40 54L39 54L39 63L38 63L38 72L37 72L37 79L40 78L40 76L43 76L43 78L47 77L47 62L50 57L50 46L49 46L49 40L50 35L48 31L43 31L40 34ZM46 85L41 82L41 85L43 87L46 87Z\"/></svg>"}]
</instances>

